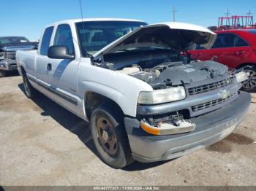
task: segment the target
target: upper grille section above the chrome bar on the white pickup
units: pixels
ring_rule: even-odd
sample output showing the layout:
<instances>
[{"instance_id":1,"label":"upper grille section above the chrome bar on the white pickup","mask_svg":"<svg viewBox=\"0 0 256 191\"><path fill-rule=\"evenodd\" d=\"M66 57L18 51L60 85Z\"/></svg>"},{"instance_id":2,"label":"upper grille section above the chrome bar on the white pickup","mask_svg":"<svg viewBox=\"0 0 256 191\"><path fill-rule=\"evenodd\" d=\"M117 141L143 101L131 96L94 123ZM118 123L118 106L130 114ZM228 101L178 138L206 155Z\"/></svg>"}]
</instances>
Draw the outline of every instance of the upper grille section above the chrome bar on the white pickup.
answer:
<instances>
[{"instance_id":1,"label":"upper grille section above the chrome bar on the white pickup","mask_svg":"<svg viewBox=\"0 0 256 191\"><path fill-rule=\"evenodd\" d=\"M216 90L220 87L225 87L227 85L230 85L232 82L233 82L232 78L227 78L227 79L223 79L222 81L214 82L214 83L207 84L207 85L201 85L201 86L197 86L197 87L189 87L188 92L189 92L189 95L206 93L211 90Z\"/></svg>"}]
</instances>

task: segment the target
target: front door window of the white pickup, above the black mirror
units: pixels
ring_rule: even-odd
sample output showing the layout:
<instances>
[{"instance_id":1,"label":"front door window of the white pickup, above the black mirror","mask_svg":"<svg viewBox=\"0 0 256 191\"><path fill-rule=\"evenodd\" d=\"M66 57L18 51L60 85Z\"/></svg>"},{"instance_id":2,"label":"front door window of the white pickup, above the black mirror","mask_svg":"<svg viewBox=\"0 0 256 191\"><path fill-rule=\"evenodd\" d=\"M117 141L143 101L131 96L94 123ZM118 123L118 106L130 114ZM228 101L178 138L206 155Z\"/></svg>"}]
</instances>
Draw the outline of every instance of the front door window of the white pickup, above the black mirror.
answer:
<instances>
[{"instance_id":1,"label":"front door window of the white pickup, above the black mirror","mask_svg":"<svg viewBox=\"0 0 256 191\"><path fill-rule=\"evenodd\" d=\"M74 44L71 28L69 25L63 24L58 26L53 45L66 46L69 50L69 54L74 54Z\"/></svg>"}]
</instances>

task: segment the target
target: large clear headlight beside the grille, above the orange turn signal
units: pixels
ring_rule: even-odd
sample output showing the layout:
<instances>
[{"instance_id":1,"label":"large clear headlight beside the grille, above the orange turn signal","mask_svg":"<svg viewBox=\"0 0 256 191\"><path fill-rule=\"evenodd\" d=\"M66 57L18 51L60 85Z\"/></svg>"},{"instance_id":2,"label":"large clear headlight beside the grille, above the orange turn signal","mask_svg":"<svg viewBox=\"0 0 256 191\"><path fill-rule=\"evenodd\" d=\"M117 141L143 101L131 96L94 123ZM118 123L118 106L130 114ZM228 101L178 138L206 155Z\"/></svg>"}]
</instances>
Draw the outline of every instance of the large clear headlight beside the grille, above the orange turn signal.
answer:
<instances>
[{"instance_id":1,"label":"large clear headlight beside the grille, above the orange turn signal","mask_svg":"<svg viewBox=\"0 0 256 191\"><path fill-rule=\"evenodd\" d=\"M164 90L153 90L141 92L138 97L138 104L162 104L171 101L178 101L186 98L184 87L172 87Z\"/></svg>"}]
</instances>

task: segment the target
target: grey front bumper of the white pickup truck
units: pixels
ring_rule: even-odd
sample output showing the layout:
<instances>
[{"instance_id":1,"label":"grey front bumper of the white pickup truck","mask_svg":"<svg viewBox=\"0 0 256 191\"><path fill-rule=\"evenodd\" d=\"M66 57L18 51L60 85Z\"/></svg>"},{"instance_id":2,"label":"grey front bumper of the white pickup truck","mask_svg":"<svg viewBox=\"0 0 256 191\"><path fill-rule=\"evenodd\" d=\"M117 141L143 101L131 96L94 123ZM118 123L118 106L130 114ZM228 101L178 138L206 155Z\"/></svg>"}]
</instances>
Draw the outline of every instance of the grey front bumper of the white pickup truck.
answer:
<instances>
[{"instance_id":1,"label":"grey front bumper of the white pickup truck","mask_svg":"<svg viewBox=\"0 0 256 191\"><path fill-rule=\"evenodd\" d=\"M140 128L137 119L124 118L135 160L150 163L187 155L228 136L244 119L251 103L249 93L240 92L236 101L214 112L191 118L194 131L168 136L152 136Z\"/></svg>"}]
</instances>

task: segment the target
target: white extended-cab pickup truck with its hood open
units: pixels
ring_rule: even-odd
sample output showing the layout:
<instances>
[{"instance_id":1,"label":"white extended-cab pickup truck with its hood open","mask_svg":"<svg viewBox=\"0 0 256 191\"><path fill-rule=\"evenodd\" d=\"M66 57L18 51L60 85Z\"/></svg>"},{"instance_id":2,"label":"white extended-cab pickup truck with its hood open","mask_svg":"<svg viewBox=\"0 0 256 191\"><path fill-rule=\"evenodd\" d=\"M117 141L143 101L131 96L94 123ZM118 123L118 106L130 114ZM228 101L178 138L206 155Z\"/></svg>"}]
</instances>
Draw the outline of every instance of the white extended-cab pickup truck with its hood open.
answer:
<instances>
[{"instance_id":1,"label":"white extended-cab pickup truck with its hood open","mask_svg":"<svg viewBox=\"0 0 256 191\"><path fill-rule=\"evenodd\" d=\"M16 59L27 97L38 90L91 122L99 156L123 168L214 144L244 118L247 74L189 58L189 47L215 39L187 23L64 20L45 28L39 50Z\"/></svg>"}]
</instances>

